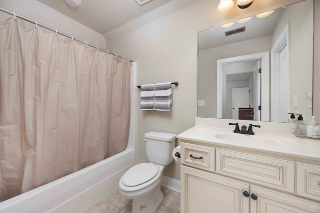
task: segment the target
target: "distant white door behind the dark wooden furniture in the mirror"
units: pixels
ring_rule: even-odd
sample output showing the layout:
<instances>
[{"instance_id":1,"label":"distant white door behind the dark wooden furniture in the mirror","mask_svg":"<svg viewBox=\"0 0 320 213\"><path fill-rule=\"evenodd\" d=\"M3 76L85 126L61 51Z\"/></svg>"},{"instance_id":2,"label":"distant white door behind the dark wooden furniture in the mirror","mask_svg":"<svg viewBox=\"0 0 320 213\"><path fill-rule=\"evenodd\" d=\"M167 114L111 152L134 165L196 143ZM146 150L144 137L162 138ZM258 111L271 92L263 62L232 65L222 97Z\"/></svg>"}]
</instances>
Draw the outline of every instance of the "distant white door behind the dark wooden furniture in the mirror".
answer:
<instances>
[{"instance_id":1,"label":"distant white door behind the dark wooden furniture in the mirror","mask_svg":"<svg viewBox=\"0 0 320 213\"><path fill-rule=\"evenodd\" d=\"M232 119L239 118L239 107L249 107L249 87L232 88Z\"/></svg>"}]
</instances>

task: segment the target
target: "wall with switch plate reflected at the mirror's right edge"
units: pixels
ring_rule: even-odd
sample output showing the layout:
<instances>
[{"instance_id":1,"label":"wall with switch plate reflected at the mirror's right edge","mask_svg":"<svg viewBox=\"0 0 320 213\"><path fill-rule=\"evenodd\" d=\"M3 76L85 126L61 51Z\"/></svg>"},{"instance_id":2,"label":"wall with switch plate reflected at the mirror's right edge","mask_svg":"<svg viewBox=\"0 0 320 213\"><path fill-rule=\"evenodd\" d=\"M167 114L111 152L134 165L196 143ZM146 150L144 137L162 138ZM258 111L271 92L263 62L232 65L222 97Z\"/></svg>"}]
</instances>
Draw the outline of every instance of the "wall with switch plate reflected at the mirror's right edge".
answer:
<instances>
[{"instance_id":1,"label":"wall with switch plate reflected at the mirror's right edge","mask_svg":"<svg viewBox=\"0 0 320 213\"><path fill-rule=\"evenodd\" d=\"M296 15L292 15L296 14ZM299 15L306 14L306 15ZM311 120L311 109L304 99L304 91L312 91L313 69L313 0L305 0L284 8L272 34L272 45L290 24L290 112L304 114L304 120ZM302 88L297 85L303 85ZM297 96L297 108L292 106L292 96Z\"/></svg>"}]
</instances>

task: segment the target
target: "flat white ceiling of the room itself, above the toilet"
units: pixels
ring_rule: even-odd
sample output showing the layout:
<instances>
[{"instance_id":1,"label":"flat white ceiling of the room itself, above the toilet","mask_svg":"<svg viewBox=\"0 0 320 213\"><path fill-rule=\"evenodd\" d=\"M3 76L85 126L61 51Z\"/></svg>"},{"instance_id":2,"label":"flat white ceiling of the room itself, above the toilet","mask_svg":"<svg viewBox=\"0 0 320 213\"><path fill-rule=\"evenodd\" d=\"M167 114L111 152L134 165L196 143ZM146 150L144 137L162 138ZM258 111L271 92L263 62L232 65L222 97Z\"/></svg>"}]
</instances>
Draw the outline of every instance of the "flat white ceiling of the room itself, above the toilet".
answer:
<instances>
[{"instance_id":1,"label":"flat white ceiling of the room itself, above the toilet","mask_svg":"<svg viewBox=\"0 0 320 213\"><path fill-rule=\"evenodd\" d=\"M141 6L135 0L81 0L78 7L64 0L38 1L104 34L170 1L174 2L168 6L177 10L199 0L150 0Z\"/></svg>"}]
</instances>

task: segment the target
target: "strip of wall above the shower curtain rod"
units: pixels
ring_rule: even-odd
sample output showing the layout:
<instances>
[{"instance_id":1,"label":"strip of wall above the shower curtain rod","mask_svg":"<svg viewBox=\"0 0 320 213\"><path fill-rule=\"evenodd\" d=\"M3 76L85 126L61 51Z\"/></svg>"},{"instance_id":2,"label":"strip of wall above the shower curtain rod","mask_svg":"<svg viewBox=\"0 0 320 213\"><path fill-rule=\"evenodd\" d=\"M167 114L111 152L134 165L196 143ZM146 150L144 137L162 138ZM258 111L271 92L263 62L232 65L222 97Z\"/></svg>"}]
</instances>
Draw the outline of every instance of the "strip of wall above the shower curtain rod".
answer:
<instances>
[{"instance_id":1,"label":"strip of wall above the shower curtain rod","mask_svg":"<svg viewBox=\"0 0 320 213\"><path fill-rule=\"evenodd\" d=\"M106 47L106 41L102 34L37 0L0 0L0 6L49 27L57 28L59 31L73 35L73 37L93 45L98 45L101 48ZM0 11L0 18L8 17L12 17L12 15Z\"/></svg>"}]
</instances>

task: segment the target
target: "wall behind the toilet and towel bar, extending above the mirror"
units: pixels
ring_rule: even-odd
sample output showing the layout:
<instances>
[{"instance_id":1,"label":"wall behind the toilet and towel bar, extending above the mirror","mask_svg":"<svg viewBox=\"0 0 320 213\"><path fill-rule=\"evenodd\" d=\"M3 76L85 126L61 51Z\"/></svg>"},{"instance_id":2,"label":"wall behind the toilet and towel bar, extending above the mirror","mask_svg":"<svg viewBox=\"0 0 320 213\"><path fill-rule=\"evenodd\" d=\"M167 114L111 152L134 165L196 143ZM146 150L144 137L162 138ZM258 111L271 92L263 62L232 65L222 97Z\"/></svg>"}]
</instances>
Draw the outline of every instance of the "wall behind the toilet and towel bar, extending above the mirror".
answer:
<instances>
[{"instance_id":1,"label":"wall behind the toilet and towel bar, extending above the mirror","mask_svg":"<svg viewBox=\"0 0 320 213\"><path fill-rule=\"evenodd\" d=\"M107 40L109 51L121 52L137 62L137 84L178 81L172 89L170 112L137 112L134 163L147 162L144 133L181 133L194 125L197 116L197 32L231 20L280 7L284 0L259 1L245 10L216 10L217 0L201 0ZM261 6L263 4L263 6ZM265 51L265 50L262 50ZM136 89L139 109L139 89ZM180 180L179 165L171 163L165 176Z\"/></svg>"}]
</instances>

